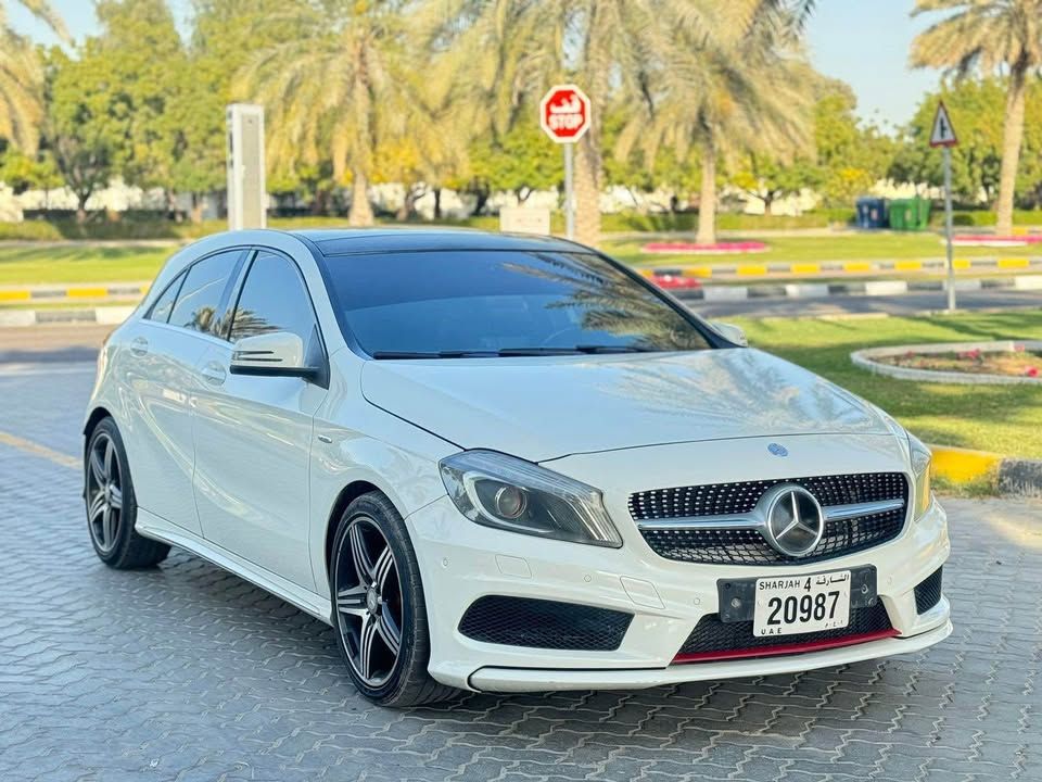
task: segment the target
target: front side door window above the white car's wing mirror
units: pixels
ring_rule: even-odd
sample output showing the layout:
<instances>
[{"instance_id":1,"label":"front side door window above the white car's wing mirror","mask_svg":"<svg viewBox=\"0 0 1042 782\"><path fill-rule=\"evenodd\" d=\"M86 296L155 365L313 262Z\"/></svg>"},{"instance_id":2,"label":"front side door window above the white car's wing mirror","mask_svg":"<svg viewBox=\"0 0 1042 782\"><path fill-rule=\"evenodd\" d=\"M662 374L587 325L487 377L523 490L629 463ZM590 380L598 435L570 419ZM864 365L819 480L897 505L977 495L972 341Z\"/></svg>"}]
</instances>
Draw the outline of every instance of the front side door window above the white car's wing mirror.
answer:
<instances>
[{"instance_id":1,"label":"front side door window above the white car's wing mirror","mask_svg":"<svg viewBox=\"0 0 1042 782\"><path fill-rule=\"evenodd\" d=\"M231 321L231 341L290 331L307 346L317 337L315 312L296 265L262 251L246 275Z\"/></svg>"}]
</instances>

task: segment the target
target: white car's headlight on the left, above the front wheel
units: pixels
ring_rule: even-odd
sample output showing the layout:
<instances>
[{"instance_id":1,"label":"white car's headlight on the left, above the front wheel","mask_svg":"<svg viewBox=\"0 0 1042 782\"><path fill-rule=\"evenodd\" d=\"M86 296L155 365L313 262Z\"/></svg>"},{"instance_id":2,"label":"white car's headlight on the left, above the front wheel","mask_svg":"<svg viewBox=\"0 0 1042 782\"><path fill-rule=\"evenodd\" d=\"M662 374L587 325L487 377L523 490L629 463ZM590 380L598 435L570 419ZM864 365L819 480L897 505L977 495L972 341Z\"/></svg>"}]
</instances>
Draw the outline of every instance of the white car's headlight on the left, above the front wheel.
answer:
<instances>
[{"instance_id":1,"label":"white car's headlight on the left, above the front wheel","mask_svg":"<svg viewBox=\"0 0 1042 782\"><path fill-rule=\"evenodd\" d=\"M593 487L495 451L465 451L439 466L449 497L471 521L573 543L622 546Z\"/></svg>"}]
</instances>

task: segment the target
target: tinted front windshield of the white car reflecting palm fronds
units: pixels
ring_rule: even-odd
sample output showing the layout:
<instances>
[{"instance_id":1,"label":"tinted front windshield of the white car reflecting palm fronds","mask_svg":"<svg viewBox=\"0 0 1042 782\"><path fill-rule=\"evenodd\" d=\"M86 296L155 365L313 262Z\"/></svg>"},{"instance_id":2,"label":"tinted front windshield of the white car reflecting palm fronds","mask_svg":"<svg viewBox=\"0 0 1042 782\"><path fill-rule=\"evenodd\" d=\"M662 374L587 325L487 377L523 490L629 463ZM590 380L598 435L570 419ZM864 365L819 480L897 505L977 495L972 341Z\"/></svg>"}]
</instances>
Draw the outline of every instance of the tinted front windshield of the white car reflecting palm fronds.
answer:
<instances>
[{"instance_id":1,"label":"tinted front windshield of the white car reflecting palm fronds","mask_svg":"<svg viewBox=\"0 0 1042 782\"><path fill-rule=\"evenodd\" d=\"M376 358L690 351L681 313L592 253L466 250L326 258L334 306Z\"/></svg>"}]
</instances>

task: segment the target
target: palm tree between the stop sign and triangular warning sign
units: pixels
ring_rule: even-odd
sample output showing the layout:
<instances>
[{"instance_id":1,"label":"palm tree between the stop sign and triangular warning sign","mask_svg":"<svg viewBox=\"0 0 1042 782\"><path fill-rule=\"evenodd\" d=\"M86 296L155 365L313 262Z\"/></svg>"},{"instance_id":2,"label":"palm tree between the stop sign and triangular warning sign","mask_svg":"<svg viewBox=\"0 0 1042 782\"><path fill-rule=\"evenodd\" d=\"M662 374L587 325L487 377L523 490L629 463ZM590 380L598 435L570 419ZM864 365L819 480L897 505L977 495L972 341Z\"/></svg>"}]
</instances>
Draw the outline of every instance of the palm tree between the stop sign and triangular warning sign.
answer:
<instances>
[{"instance_id":1,"label":"palm tree between the stop sign and triangular warning sign","mask_svg":"<svg viewBox=\"0 0 1042 782\"><path fill-rule=\"evenodd\" d=\"M800 17L761 4L738 36L720 38L673 25L668 59L647 71L650 116L634 114L615 153L639 146L649 162L661 146L701 161L700 244L716 241L716 168L747 152L792 157L813 144L817 76L796 47Z\"/></svg>"}]
</instances>

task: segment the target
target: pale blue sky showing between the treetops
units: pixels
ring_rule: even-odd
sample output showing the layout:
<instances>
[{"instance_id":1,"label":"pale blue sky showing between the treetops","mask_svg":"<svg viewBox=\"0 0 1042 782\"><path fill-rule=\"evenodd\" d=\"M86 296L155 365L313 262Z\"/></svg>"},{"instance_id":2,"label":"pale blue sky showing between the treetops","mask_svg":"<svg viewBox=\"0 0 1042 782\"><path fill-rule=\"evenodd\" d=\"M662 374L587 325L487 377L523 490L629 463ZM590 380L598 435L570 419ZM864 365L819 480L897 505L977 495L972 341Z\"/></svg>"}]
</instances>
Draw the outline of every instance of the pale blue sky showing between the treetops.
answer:
<instances>
[{"instance_id":1,"label":"pale blue sky showing between the treetops","mask_svg":"<svg viewBox=\"0 0 1042 782\"><path fill-rule=\"evenodd\" d=\"M723 0L722 0L723 1ZM168 0L175 18L187 28L189 0ZM96 33L91 0L51 0L77 40ZM814 66L840 78L857 96L857 113L887 129L912 118L923 93L938 84L933 71L908 68L908 45L928 20L911 18L912 0L817 0L806 25ZM11 8L15 27L43 43L54 37L18 5Z\"/></svg>"}]
</instances>

